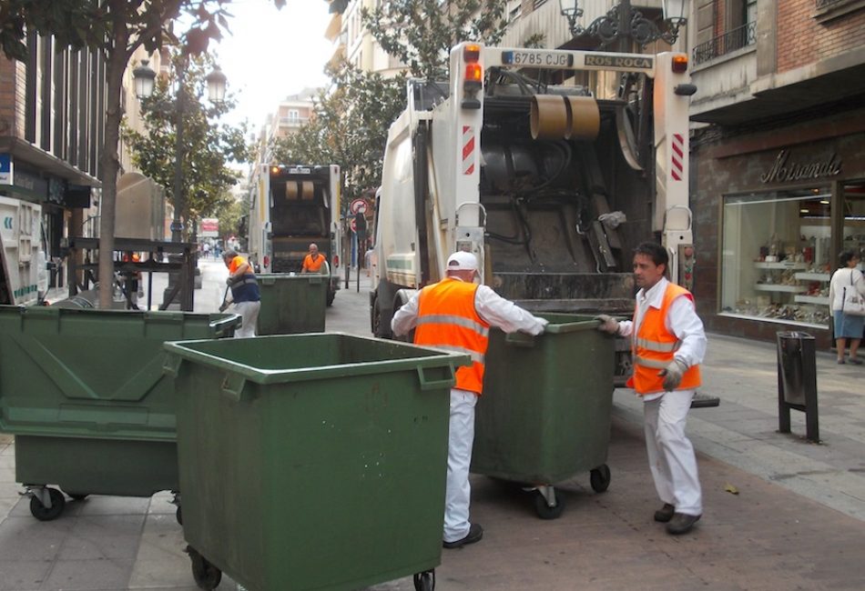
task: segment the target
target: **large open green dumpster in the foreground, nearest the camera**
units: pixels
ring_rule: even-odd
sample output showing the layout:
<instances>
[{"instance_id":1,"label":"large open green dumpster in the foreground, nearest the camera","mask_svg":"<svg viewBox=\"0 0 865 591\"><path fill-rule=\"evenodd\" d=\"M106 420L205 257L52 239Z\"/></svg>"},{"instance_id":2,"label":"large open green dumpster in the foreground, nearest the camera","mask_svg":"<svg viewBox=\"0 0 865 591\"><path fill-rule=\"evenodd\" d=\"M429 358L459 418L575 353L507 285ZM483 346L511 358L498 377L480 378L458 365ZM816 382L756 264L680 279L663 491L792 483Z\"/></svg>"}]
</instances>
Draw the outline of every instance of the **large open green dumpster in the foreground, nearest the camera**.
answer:
<instances>
[{"instance_id":1,"label":"large open green dumpster in the foreground, nearest the camera","mask_svg":"<svg viewBox=\"0 0 865 591\"><path fill-rule=\"evenodd\" d=\"M441 559L449 390L468 356L341 335L168 343L202 588L355 589Z\"/></svg>"}]
</instances>

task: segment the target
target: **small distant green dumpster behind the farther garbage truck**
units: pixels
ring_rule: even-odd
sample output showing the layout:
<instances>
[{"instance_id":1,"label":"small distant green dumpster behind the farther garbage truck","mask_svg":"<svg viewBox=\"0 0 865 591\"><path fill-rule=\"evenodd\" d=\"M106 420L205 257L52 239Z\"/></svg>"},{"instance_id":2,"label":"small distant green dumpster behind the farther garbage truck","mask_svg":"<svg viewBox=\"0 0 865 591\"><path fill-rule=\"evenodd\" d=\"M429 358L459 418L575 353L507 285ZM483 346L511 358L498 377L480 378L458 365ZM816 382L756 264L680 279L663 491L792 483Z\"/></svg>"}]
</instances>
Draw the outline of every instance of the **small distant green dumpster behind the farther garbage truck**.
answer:
<instances>
[{"instance_id":1,"label":"small distant green dumpster behind the farther garbage truck","mask_svg":"<svg viewBox=\"0 0 865 591\"><path fill-rule=\"evenodd\" d=\"M328 275L270 273L257 276L261 292L257 335L324 332Z\"/></svg>"}]
</instances>

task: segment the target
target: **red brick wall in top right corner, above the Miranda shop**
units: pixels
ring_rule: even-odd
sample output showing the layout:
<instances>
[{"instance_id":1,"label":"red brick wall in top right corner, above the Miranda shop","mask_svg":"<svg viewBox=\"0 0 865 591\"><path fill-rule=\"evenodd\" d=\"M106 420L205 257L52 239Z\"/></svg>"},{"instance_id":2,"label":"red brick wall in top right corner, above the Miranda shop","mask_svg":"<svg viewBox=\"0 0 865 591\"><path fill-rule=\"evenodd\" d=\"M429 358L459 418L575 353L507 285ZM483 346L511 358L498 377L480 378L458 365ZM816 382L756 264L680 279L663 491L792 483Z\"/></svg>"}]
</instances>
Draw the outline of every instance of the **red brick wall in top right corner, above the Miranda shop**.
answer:
<instances>
[{"instance_id":1,"label":"red brick wall in top right corner, above the Miranda shop","mask_svg":"<svg viewBox=\"0 0 865 591\"><path fill-rule=\"evenodd\" d=\"M778 72L865 45L865 10L819 23L814 0L778 2Z\"/></svg>"}]
</instances>

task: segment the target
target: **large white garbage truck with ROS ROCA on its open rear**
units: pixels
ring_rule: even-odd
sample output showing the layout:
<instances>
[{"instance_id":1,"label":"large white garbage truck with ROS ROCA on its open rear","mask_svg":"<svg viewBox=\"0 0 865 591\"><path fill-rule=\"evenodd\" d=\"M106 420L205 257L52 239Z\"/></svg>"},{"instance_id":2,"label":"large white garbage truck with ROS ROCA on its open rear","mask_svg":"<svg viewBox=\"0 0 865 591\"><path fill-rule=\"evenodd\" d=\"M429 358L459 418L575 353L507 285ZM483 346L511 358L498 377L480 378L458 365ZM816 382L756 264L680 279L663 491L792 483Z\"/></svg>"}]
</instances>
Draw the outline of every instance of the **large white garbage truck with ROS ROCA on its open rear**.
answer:
<instances>
[{"instance_id":1,"label":"large white garbage truck with ROS ROCA on its open rear","mask_svg":"<svg viewBox=\"0 0 865 591\"><path fill-rule=\"evenodd\" d=\"M481 280L534 312L633 312L633 249L667 246L690 280L687 55L463 43L450 78L412 80L375 207L371 328L472 252ZM608 85L600 81L612 81ZM611 90L605 96L597 88ZM687 276L686 276L687 275ZM616 385L630 371L616 346Z\"/></svg>"}]
</instances>

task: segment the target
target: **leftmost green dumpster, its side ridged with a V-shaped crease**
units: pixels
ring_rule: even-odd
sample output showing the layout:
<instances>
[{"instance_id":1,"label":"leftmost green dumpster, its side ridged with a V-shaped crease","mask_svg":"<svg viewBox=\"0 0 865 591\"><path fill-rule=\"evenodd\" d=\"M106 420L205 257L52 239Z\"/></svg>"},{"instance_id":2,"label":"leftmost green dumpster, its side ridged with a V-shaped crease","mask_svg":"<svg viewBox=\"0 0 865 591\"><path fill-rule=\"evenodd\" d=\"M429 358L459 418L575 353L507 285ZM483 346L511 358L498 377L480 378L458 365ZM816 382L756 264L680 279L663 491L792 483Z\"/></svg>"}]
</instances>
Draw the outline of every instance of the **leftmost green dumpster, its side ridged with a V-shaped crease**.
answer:
<instances>
[{"instance_id":1,"label":"leftmost green dumpster, its side ridged with a V-shaped crease","mask_svg":"<svg viewBox=\"0 0 865 591\"><path fill-rule=\"evenodd\" d=\"M165 341L232 336L239 316L0 306L0 431L39 519L88 494L178 490Z\"/></svg>"}]
</instances>

